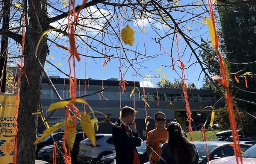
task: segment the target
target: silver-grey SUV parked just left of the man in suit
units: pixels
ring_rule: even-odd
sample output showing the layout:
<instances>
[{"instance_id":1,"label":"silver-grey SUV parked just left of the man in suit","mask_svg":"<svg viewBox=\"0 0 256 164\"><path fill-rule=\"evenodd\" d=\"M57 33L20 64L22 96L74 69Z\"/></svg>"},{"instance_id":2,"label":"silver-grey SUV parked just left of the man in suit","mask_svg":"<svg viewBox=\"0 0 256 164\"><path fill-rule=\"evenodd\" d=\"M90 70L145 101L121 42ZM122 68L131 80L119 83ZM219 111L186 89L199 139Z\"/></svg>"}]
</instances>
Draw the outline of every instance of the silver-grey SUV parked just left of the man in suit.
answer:
<instances>
[{"instance_id":1,"label":"silver-grey SUV parked just left of the man in suit","mask_svg":"<svg viewBox=\"0 0 256 164\"><path fill-rule=\"evenodd\" d=\"M93 164L97 163L103 156L114 153L114 141L112 134L95 134L96 147L90 142L89 138L79 144L79 154L77 161L79 164L87 164L89 160Z\"/></svg>"}]
</instances>

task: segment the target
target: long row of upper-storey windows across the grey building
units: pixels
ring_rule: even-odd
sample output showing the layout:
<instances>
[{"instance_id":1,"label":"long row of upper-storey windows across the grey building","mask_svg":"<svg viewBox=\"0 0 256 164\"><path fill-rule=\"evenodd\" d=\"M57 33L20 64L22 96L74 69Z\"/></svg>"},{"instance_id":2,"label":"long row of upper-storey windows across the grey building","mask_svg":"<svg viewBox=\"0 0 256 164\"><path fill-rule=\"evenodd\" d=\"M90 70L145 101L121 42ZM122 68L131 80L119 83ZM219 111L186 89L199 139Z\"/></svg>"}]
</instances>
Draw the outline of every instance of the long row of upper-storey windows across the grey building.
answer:
<instances>
[{"instance_id":1,"label":"long row of upper-storey windows across the grey building","mask_svg":"<svg viewBox=\"0 0 256 164\"><path fill-rule=\"evenodd\" d=\"M68 90L57 90L60 94L60 97L63 99L69 98L69 91ZM93 94L94 91L86 91L86 95ZM76 93L76 97L84 95L84 91L78 91ZM103 95L103 96L102 96ZM104 91L103 94L93 94L86 96L86 99L108 99L108 100L126 100L131 101L133 100L133 96L130 97L130 93L124 92L113 92L113 91ZM158 95L158 96L157 96ZM52 90L42 90L41 94L42 98L57 98L56 94L53 93ZM139 97L138 93L135 93L135 101L142 100L144 96ZM183 94L168 94L168 93L146 93L144 97L147 101L176 101L181 102L184 101ZM218 98L218 97L217 97ZM188 99L190 102L215 102L214 95L202 95L202 94L188 94Z\"/></svg>"}]
</instances>

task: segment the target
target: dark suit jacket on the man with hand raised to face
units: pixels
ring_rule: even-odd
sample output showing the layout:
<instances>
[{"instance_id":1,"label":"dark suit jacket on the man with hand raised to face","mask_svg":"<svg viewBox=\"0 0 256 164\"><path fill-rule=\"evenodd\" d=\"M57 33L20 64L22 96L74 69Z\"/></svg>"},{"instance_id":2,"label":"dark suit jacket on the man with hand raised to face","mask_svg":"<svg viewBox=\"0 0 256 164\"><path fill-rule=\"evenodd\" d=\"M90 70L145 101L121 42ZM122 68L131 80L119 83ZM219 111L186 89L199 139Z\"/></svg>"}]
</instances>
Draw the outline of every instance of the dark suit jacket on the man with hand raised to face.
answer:
<instances>
[{"instance_id":1,"label":"dark suit jacket on the man with hand raised to face","mask_svg":"<svg viewBox=\"0 0 256 164\"><path fill-rule=\"evenodd\" d=\"M116 148L116 164L133 164L134 158L134 149L138 153L136 147L141 145L141 141L138 133L133 133L132 129L128 128L128 132L125 130L121 120L118 119L116 125L119 127L113 126L112 134L114 139L114 145Z\"/></svg>"}]
</instances>

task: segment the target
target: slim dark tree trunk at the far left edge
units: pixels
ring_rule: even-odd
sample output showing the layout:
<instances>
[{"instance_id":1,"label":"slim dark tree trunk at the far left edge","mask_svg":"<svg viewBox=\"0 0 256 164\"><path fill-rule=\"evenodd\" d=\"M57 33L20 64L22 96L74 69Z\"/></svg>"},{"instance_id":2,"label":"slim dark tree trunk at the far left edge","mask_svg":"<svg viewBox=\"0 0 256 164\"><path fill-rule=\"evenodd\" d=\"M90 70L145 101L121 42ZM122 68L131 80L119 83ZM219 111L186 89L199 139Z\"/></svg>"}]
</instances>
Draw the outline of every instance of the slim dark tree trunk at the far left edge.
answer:
<instances>
[{"instance_id":1,"label":"slim dark tree trunk at the far left edge","mask_svg":"<svg viewBox=\"0 0 256 164\"><path fill-rule=\"evenodd\" d=\"M7 30L9 28L10 5L11 5L11 0L4 0L2 30ZM7 54L8 54L8 37L2 35L0 56L7 57ZM0 80L0 88L1 88L0 92L2 92L2 93L5 93L6 64L7 64L7 58L0 58L0 79L1 79Z\"/></svg>"}]
</instances>

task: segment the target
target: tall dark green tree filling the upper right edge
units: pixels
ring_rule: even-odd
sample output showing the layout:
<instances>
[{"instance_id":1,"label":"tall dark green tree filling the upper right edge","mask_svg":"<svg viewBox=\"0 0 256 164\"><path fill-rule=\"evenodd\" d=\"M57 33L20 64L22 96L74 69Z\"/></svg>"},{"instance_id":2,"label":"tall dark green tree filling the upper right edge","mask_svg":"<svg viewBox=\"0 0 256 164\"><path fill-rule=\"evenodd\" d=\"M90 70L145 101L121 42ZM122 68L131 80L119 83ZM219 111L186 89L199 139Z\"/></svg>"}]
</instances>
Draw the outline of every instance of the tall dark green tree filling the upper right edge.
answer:
<instances>
[{"instance_id":1,"label":"tall dark green tree filling the upper right edge","mask_svg":"<svg viewBox=\"0 0 256 164\"><path fill-rule=\"evenodd\" d=\"M226 57L229 62L232 94L236 98L255 102L255 75L246 75L248 86L245 86L244 73L256 73L256 19L254 5L237 5L219 8L223 39L226 47ZM244 63L244 64L242 64ZM247 63L247 64L246 64ZM236 74L234 74L236 73ZM235 81L234 75L239 79ZM243 91L244 90L244 91ZM246 111L254 111L255 105L237 101L237 105Z\"/></svg>"}]
</instances>

